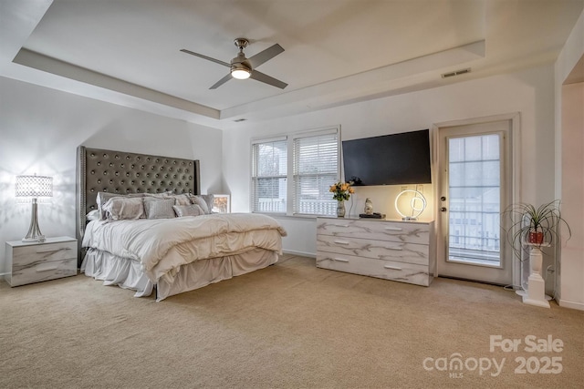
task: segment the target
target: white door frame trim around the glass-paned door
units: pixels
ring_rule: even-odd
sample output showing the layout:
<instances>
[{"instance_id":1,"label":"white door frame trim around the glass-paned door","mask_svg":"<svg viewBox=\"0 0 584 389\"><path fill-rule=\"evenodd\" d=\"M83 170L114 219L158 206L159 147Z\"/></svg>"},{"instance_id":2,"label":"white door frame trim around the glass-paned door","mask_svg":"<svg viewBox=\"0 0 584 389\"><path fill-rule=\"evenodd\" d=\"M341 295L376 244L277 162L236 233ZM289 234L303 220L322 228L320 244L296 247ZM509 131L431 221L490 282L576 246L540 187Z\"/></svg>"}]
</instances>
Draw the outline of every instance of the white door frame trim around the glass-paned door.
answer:
<instances>
[{"instance_id":1,"label":"white door frame trim around the glass-paned door","mask_svg":"<svg viewBox=\"0 0 584 389\"><path fill-rule=\"evenodd\" d=\"M440 220L440 188L442 188L443 175L440 174L441 167L439 161L442 156L440 155L440 142L438 139L438 132L440 128L455 127L455 126L468 126L474 124L483 124L493 121L503 121L507 120L511 123L511 133L509 135L510 147L511 147L511 159L508 161L512 164L511 167L511 202L516 203L521 199L521 143L520 143L520 132L521 132L521 113L513 112L508 114L480 117L480 118L466 118L460 120L451 120L440 123L434 123L432 127L432 144L433 144L433 169L432 169L432 180L434 185L434 214L433 219L436 220L435 224L435 242L436 242L436 255L444 255L445 245L442 230L442 223ZM503 235L501 239L504 239ZM513 285L521 285L521 267L520 262L515 255L511 256L511 281ZM437 261L439 262L439 261ZM436 266L435 276L438 276L438 266Z\"/></svg>"}]
</instances>

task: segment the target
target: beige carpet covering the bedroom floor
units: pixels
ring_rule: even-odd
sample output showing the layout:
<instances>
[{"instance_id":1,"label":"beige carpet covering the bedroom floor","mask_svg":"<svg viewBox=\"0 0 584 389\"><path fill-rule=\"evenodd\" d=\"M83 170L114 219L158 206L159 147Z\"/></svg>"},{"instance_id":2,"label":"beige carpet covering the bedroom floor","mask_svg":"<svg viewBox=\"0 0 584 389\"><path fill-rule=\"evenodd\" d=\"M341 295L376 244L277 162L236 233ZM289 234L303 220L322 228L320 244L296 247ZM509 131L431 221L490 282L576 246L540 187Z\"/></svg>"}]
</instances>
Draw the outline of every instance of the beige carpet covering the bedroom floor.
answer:
<instances>
[{"instance_id":1,"label":"beige carpet covering the bedroom floor","mask_svg":"<svg viewBox=\"0 0 584 389\"><path fill-rule=\"evenodd\" d=\"M584 312L276 265L162 302L0 282L0 388L581 388Z\"/></svg>"}]
</instances>

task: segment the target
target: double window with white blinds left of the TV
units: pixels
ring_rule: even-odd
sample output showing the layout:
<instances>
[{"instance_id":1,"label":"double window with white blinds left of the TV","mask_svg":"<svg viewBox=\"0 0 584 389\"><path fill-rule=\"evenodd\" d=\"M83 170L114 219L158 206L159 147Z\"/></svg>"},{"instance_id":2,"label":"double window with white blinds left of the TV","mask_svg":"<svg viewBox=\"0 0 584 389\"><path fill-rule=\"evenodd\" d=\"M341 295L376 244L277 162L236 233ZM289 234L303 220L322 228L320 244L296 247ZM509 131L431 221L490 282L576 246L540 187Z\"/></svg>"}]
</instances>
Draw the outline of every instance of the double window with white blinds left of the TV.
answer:
<instances>
[{"instance_id":1,"label":"double window with white blinds left of the TV","mask_svg":"<svg viewBox=\"0 0 584 389\"><path fill-rule=\"evenodd\" d=\"M328 188L338 180L339 128L252 142L254 212L335 215Z\"/></svg>"}]
</instances>

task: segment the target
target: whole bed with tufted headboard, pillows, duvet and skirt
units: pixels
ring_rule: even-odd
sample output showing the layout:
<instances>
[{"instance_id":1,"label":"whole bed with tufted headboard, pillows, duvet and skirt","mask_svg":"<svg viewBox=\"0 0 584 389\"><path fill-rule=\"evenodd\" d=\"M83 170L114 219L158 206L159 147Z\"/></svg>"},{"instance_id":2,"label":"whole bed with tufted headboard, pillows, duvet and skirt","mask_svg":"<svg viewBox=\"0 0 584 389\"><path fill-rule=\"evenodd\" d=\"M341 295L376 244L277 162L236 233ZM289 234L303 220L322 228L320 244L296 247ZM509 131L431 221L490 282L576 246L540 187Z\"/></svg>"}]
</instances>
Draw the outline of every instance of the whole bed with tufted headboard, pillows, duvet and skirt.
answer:
<instances>
[{"instance_id":1,"label":"whole bed with tufted headboard, pillows, duvet and skirt","mask_svg":"<svg viewBox=\"0 0 584 389\"><path fill-rule=\"evenodd\" d=\"M214 213L199 161L78 148L79 267L156 300L276 263L276 220Z\"/></svg>"}]
</instances>

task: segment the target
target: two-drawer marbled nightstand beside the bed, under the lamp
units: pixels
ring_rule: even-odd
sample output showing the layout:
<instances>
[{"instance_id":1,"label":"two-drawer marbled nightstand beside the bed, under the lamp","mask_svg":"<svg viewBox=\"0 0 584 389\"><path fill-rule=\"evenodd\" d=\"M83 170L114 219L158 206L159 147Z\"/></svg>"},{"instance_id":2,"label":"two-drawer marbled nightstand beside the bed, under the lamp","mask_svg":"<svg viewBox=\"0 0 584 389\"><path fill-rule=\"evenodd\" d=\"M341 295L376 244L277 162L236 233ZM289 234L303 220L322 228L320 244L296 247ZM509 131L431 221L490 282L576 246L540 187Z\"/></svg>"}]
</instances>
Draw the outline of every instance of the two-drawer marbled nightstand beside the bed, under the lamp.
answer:
<instances>
[{"instance_id":1,"label":"two-drawer marbled nightstand beside the bed, under the lamp","mask_svg":"<svg viewBox=\"0 0 584 389\"><path fill-rule=\"evenodd\" d=\"M77 275L77 240L67 236L47 241L7 241L6 261L10 286Z\"/></svg>"}]
</instances>

